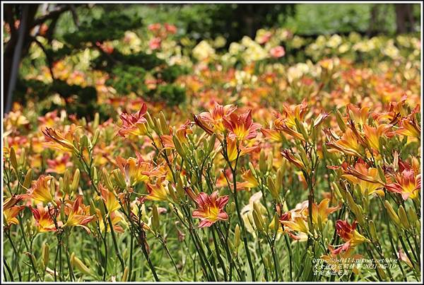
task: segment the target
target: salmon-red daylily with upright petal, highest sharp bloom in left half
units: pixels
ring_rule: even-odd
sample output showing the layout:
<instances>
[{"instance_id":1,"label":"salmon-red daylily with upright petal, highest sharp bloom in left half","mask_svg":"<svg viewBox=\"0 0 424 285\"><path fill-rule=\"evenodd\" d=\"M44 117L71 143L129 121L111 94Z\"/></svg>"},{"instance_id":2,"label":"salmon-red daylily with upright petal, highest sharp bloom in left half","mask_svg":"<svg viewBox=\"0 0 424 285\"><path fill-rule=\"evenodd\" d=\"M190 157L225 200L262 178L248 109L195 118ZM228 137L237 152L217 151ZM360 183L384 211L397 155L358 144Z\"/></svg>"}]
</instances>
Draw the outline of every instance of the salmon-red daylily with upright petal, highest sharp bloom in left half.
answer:
<instances>
[{"instance_id":1,"label":"salmon-red daylily with upright petal, highest sharp bloom in left half","mask_svg":"<svg viewBox=\"0 0 424 285\"><path fill-rule=\"evenodd\" d=\"M122 113L119 117L122 120L122 126L119 127L118 134L120 136L127 136L129 134L134 136L140 136L147 134L147 120L144 118L147 112L147 105L143 103L139 112L135 114Z\"/></svg>"}]
</instances>

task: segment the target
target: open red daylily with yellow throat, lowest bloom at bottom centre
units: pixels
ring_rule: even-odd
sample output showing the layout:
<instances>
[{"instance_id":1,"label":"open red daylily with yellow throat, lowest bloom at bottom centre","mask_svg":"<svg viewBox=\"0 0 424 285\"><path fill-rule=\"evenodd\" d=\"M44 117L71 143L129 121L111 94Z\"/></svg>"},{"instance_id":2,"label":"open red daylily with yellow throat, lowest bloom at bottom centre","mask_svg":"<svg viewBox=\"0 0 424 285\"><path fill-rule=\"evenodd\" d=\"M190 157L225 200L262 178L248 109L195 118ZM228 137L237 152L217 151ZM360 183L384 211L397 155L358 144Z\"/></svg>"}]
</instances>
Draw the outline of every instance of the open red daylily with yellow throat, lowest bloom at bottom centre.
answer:
<instances>
[{"instance_id":1,"label":"open red daylily with yellow throat, lowest bloom at bottom centre","mask_svg":"<svg viewBox=\"0 0 424 285\"><path fill-rule=\"evenodd\" d=\"M193 218L201 219L199 228L212 226L216 221L225 221L228 214L225 213L224 207L228 203L228 196L218 197L218 191L213 192L210 196L204 192L199 193L196 197L198 208L193 211Z\"/></svg>"}]
</instances>

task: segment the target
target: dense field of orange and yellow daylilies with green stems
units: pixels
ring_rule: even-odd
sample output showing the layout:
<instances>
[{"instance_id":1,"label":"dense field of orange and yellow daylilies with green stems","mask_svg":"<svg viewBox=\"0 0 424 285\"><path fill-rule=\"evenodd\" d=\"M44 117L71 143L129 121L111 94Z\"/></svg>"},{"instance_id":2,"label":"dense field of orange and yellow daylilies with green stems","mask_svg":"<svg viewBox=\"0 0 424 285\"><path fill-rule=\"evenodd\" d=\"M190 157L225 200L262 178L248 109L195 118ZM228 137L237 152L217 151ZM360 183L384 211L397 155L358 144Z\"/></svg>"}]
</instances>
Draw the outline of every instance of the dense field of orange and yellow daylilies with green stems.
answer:
<instances>
[{"instance_id":1,"label":"dense field of orange and yellow daylilies with green stems","mask_svg":"<svg viewBox=\"0 0 424 285\"><path fill-rule=\"evenodd\" d=\"M140 95L150 75L120 94L91 50L28 71L99 107L4 115L4 279L419 281L420 38L279 28L225 48L177 29L98 45L182 66L173 105Z\"/></svg>"}]
</instances>

